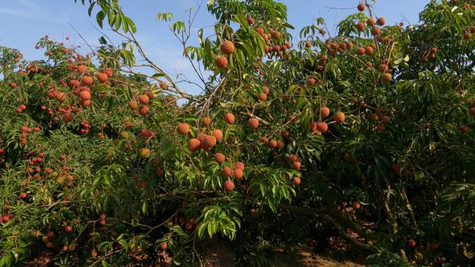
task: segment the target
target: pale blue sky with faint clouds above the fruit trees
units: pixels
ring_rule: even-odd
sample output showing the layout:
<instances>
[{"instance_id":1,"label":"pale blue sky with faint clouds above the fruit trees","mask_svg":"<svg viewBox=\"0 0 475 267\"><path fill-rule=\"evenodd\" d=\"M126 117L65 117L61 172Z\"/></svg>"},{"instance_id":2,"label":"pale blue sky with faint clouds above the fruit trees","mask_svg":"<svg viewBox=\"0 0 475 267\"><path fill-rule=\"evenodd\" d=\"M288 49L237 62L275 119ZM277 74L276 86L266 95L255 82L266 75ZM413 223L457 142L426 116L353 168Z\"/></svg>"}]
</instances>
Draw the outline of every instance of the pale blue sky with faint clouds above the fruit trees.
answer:
<instances>
[{"instance_id":1,"label":"pale blue sky with faint clouds above the fruit trees","mask_svg":"<svg viewBox=\"0 0 475 267\"><path fill-rule=\"evenodd\" d=\"M94 17L88 17L87 7L74 0L0 0L0 45L19 49L28 60L42 58L42 51L35 50L35 42L45 34L54 40L64 40L70 36L70 42L83 44L72 26L90 42L97 44L101 36L94 26ZM78 0L78 2L81 2ZM198 28L211 26L214 17L203 5L194 25ZM324 17L329 29L335 28L338 21L356 12L359 0L282 0L288 6L288 21L295 26L292 31L294 41L303 26L313 24L313 19ZM156 21L158 12L171 11L176 19L183 18L185 10L196 7L201 0L119 0L128 17L137 24L138 40L147 55L163 67L169 74L183 73L195 80L192 69L182 56L179 42L169 33L163 21ZM374 5L377 16L386 18L387 24L405 21L417 23L418 14L428 0L377 0ZM338 8L338 9L335 9ZM108 35L113 33L106 31ZM114 40L120 40L115 37ZM190 44L197 44L197 38ZM65 41L66 42L66 41ZM184 89L194 94L196 88L183 84Z\"/></svg>"}]
</instances>

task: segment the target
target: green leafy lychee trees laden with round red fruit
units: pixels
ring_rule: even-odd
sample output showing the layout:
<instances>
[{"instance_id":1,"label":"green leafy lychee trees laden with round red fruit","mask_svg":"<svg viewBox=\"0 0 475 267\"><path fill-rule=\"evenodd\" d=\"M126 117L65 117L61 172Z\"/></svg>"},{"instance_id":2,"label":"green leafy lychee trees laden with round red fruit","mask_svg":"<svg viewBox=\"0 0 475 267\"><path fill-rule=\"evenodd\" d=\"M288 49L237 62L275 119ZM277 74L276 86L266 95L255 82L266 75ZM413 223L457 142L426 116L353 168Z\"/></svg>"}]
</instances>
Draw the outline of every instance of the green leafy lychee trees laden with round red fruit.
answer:
<instances>
[{"instance_id":1,"label":"green leafy lychee trees laden with round red fruit","mask_svg":"<svg viewBox=\"0 0 475 267\"><path fill-rule=\"evenodd\" d=\"M1 48L0 266L204 266L217 238L265 266L328 236L371 266L473 264L472 3L388 26L357 2L335 35L319 18L294 41L283 3L210 0L197 46L192 10L160 12L192 95L118 1L87 2L122 44L82 55L45 36L40 61Z\"/></svg>"}]
</instances>

